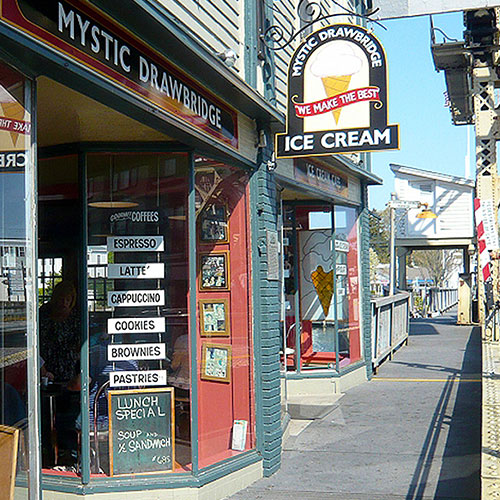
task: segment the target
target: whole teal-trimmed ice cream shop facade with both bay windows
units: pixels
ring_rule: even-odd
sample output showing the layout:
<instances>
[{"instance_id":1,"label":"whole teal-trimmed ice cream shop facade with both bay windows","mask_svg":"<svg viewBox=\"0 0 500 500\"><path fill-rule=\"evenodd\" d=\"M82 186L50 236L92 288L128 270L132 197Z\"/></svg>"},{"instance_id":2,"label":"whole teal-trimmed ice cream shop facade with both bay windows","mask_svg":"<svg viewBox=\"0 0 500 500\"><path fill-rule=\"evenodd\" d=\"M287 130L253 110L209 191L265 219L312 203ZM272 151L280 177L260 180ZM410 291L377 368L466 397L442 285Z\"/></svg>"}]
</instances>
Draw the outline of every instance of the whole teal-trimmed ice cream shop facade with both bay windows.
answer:
<instances>
[{"instance_id":1,"label":"whole teal-trimmed ice cream shop facade with both bay windows","mask_svg":"<svg viewBox=\"0 0 500 500\"><path fill-rule=\"evenodd\" d=\"M296 4L2 2L14 498L223 498L370 375L369 156L272 155Z\"/></svg>"}]
</instances>

